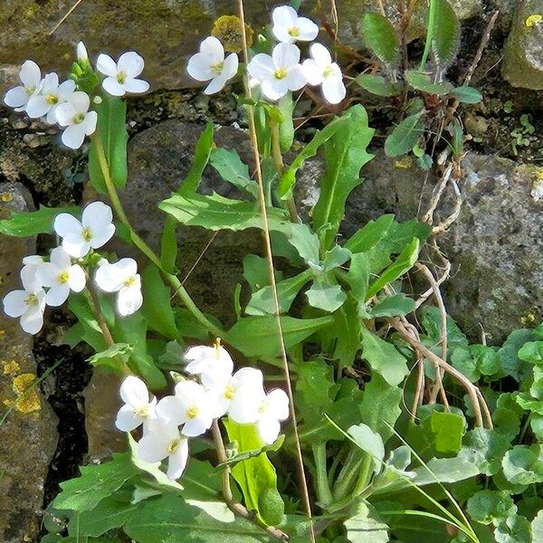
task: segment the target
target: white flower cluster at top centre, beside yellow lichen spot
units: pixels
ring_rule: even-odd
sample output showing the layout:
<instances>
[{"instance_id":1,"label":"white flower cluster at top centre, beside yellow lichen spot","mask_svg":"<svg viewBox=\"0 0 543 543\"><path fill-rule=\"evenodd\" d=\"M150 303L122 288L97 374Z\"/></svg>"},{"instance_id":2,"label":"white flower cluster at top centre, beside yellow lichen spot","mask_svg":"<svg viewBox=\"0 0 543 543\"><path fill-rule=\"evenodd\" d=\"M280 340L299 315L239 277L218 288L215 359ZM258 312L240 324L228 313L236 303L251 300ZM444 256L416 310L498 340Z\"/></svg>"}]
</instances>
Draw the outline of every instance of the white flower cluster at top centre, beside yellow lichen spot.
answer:
<instances>
[{"instance_id":1,"label":"white flower cluster at top centre, beside yellow lichen spot","mask_svg":"<svg viewBox=\"0 0 543 543\"><path fill-rule=\"evenodd\" d=\"M273 10L272 32L279 41L270 54L259 52L247 65L252 87L260 85L268 100L279 100L289 90L300 90L305 85L320 85L325 100L338 104L347 94L343 75L329 50L320 43L310 46L310 58L300 63L300 48L296 42L312 42L319 34L319 26L307 17L300 17L289 5ZM200 51L188 61L188 74L196 81L209 81L205 94L224 88L238 70L238 57L233 52L224 58L223 44L214 36L205 38Z\"/></svg>"}]
</instances>

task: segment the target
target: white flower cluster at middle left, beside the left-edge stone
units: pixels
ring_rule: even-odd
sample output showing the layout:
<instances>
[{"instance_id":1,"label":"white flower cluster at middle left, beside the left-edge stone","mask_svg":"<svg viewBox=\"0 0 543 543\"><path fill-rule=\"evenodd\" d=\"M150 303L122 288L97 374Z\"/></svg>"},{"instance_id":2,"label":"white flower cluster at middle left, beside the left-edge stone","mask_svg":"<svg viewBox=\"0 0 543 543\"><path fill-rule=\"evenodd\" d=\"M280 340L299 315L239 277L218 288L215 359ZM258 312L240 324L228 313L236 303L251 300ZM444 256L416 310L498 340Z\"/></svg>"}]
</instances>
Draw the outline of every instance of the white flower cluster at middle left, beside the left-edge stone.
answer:
<instances>
[{"instance_id":1,"label":"white flower cluster at middle left, beside the left-edge stone","mask_svg":"<svg viewBox=\"0 0 543 543\"><path fill-rule=\"evenodd\" d=\"M37 334L43 327L46 306L59 307L70 292L81 292L85 288L87 273L80 259L87 256L90 249L99 249L110 241L115 233L112 221L110 206L102 202L87 205L81 221L68 213L58 214L53 226L62 238L62 245L52 250L49 262L39 255L24 257L23 289L5 295L5 314L20 318L21 327L28 334ZM117 310L121 316L137 311L143 303L138 265L131 258L112 264L102 259L95 282L101 291L118 293Z\"/></svg>"}]
</instances>

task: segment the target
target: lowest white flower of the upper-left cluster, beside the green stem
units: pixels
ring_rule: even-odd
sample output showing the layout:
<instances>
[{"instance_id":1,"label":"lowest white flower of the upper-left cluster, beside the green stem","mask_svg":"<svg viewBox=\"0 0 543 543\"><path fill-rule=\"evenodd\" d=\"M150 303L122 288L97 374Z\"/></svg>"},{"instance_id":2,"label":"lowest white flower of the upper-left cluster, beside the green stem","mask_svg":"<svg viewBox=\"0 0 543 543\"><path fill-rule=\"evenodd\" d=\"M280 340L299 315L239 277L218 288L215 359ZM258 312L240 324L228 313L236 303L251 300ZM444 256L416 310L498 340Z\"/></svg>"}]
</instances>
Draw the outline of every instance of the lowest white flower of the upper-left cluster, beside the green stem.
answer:
<instances>
[{"instance_id":1,"label":"lowest white flower of the upper-left cluster, beside the green stem","mask_svg":"<svg viewBox=\"0 0 543 543\"><path fill-rule=\"evenodd\" d=\"M60 104L55 116L62 127L68 127L62 132L62 143L69 148L79 149L85 136L90 136L96 130L98 115L89 111L90 98L86 92L76 90L70 100Z\"/></svg>"}]
</instances>

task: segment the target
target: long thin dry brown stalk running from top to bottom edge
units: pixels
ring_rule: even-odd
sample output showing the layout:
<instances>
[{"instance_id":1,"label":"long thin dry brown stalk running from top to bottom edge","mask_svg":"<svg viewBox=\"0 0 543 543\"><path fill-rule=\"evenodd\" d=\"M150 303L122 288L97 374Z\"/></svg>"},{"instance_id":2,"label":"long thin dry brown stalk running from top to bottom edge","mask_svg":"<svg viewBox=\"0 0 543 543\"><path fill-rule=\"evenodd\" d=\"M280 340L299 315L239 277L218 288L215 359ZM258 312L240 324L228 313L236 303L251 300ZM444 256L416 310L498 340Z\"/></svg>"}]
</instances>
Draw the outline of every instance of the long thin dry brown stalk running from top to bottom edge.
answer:
<instances>
[{"instance_id":1,"label":"long thin dry brown stalk running from top to bottom edge","mask_svg":"<svg viewBox=\"0 0 543 543\"><path fill-rule=\"evenodd\" d=\"M239 14L242 25L242 34L243 34L243 58L245 65L249 62L249 53L247 52L247 36L245 34L245 14L243 10L243 0L238 0ZM252 98L251 89L247 85L247 97ZM266 260L268 261L268 271L270 274L270 284L271 284L271 294L273 297L273 303L275 307L275 319L277 324L278 337L280 342L280 351L281 351L281 361L282 369L285 376L285 384L287 387L287 394L289 395L289 408L291 412L291 421L292 421L292 433L294 434L294 441L296 443L296 459L298 463L298 476L300 480L300 489L302 493L304 508L308 519L310 519L310 531L309 537L312 543L315 543L315 532L313 529L313 522L311 520L311 501L310 501L310 491L308 489L308 483L306 479L305 469L303 465L303 456L301 454L301 445L300 445L300 436L298 434L298 423L296 420L296 411L294 410L294 398L292 395L292 385L291 385L291 372L289 370L289 361L287 358L287 350L285 348L285 342L282 334L282 325L281 325L281 311L279 307L279 298L277 295L277 287L275 284L275 270L273 267L273 255L271 252L271 239L270 239L270 226L268 224L268 214L266 213L266 197L264 195L264 186L262 182L262 168L260 162L260 156L258 152L258 139L256 136L256 126L254 121L254 109L252 105L247 106L247 113L249 117L249 133L251 135L252 143L252 152L254 157L254 164L256 167L256 178L258 182L258 196L259 204L261 207L262 213L262 225L264 231L264 244L266 249Z\"/></svg>"}]
</instances>

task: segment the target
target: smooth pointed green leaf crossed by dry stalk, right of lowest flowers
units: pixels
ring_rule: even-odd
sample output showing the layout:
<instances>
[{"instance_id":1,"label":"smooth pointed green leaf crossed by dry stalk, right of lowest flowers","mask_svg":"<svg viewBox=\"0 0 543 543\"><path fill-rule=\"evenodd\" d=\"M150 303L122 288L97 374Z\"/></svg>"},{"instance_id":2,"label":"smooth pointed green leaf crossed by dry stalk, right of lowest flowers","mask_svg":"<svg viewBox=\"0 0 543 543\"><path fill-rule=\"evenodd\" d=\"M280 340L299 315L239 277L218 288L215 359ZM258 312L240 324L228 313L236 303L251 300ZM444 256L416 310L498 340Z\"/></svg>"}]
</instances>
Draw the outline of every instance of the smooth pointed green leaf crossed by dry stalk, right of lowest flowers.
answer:
<instances>
[{"instance_id":1,"label":"smooth pointed green leaf crossed by dry stalk, right of lowest flowers","mask_svg":"<svg viewBox=\"0 0 543 543\"><path fill-rule=\"evenodd\" d=\"M332 317L319 319L281 317L285 347L294 347L332 322ZM238 320L228 331L226 341L247 357L275 357L281 353L275 316L247 317Z\"/></svg>"}]
</instances>

